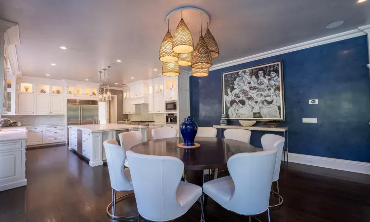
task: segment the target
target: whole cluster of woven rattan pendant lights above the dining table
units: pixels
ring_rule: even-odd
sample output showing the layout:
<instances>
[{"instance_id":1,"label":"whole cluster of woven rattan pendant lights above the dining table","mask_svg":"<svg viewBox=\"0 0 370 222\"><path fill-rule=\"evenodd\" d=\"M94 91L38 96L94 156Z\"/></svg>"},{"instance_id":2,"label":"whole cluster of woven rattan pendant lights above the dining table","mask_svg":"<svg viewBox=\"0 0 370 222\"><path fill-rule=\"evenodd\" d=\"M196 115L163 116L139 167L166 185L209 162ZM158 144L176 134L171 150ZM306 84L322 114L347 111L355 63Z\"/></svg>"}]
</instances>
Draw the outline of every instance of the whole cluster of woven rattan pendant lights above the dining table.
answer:
<instances>
[{"instance_id":1,"label":"whole cluster of woven rattan pendant lights above the dining table","mask_svg":"<svg viewBox=\"0 0 370 222\"><path fill-rule=\"evenodd\" d=\"M200 32L202 32L202 14L200 14ZM191 54L192 52L192 54ZM180 66L190 66L194 76L207 76L212 66L212 59L219 56L219 46L207 27L203 37L201 33L194 49L193 37L181 12L181 20L174 36L168 30L159 49L159 60L163 62L162 75L180 74Z\"/></svg>"}]
</instances>

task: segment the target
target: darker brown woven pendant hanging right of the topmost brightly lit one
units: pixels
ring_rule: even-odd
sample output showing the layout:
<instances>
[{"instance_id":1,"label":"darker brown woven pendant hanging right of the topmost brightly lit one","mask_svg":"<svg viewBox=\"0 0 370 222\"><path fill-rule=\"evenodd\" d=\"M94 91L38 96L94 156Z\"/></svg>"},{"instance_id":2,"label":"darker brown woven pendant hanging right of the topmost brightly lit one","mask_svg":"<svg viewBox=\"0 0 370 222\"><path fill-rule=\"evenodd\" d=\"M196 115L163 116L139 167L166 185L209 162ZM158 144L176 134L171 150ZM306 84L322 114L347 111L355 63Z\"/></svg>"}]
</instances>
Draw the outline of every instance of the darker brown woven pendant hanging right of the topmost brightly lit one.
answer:
<instances>
[{"instance_id":1,"label":"darker brown woven pendant hanging right of the topmost brightly lit one","mask_svg":"<svg viewBox=\"0 0 370 222\"><path fill-rule=\"evenodd\" d=\"M202 14L200 14L200 32L202 32ZM198 43L191 57L191 67L196 69L205 69L212 66L212 56L204 40L203 34L200 33Z\"/></svg>"}]
</instances>

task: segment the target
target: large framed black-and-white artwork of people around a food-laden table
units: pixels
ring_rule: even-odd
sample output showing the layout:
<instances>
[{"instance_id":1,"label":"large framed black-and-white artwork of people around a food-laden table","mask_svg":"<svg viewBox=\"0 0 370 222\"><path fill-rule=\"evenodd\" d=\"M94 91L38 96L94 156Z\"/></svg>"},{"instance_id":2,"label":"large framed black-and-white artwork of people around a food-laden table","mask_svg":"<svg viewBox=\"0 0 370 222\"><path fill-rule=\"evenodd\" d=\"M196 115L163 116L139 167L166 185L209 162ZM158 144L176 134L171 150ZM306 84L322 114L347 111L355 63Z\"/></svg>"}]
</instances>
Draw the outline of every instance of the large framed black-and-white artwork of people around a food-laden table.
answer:
<instances>
[{"instance_id":1,"label":"large framed black-and-white artwork of people around a food-laden table","mask_svg":"<svg viewBox=\"0 0 370 222\"><path fill-rule=\"evenodd\" d=\"M226 119L285 121L282 61L222 73Z\"/></svg>"}]
</instances>

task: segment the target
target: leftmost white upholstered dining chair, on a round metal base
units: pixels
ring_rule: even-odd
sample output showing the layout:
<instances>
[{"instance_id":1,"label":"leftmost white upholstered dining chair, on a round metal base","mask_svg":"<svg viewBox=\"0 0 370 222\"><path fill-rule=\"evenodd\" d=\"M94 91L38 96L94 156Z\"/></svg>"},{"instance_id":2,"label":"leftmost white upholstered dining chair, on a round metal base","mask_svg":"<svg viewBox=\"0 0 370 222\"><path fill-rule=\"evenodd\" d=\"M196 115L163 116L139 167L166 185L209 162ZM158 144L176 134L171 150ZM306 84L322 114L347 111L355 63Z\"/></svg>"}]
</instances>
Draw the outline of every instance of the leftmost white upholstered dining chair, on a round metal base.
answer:
<instances>
[{"instance_id":1,"label":"leftmost white upholstered dining chair, on a round metal base","mask_svg":"<svg viewBox=\"0 0 370 222\"><path fill-rule=\"evenodd\" d=\"M115 140L106 140L103 145L106 152L109 177L111 179L112 187L112 202L107 207L107 214L113 220L123 218L132 219L138 217L138 215L128 217L115 215L116 203L128 195L134 194L129 193L116 198L116 191L132 191L134 190L134 187L131 182L131 174L129 168L123 169L123 164L126 159L125 150L120 147ZM112 212L110 212L111 208Z\"/></svg>"}]
</instances>

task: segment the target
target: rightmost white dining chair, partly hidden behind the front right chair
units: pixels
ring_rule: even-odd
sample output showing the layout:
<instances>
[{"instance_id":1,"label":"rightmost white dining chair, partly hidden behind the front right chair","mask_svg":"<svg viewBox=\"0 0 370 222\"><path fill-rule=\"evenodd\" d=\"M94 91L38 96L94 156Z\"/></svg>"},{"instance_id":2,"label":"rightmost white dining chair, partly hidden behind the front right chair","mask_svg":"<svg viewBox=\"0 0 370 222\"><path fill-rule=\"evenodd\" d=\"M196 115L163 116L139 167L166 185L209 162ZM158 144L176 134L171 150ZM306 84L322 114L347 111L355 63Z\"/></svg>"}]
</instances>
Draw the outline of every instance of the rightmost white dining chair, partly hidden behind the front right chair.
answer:
<instances>
[{"instance_id":1,"label":"rightmost white dining chair, partly hidden behind the front right chair","mask_svg":"<svg viewBox=\"0 0 370 222\"><path fill-rule=\"evenodd\" d=\"M284 143L285 138L279 135L265 134L261 137L261 144L264 151L278 148L275 161L274 177L272 179L272 182L276 182L277 192L274 191L272 188L272 193L278 196L279 203L276 205L271 205L270 207L280 207L283 204L283 197L280 196L278 180L280 175L281 156L283 154Z\"/></svg>"}]
</instances>

